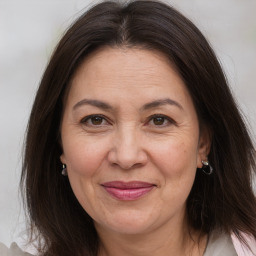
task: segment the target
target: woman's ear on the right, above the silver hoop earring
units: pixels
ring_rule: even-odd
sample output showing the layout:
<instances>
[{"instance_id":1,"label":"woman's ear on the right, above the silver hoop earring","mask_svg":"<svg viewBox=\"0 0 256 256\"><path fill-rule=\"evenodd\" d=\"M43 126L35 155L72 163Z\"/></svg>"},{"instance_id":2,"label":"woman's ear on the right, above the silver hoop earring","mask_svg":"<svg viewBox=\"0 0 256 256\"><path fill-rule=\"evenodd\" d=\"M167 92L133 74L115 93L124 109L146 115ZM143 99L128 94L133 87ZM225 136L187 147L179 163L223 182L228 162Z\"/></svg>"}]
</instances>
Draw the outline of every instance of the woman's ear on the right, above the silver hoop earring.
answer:
<instances>
[{"instance_id":1,"label":"woman's ear on the right, above the silver hoop earring","mask_svg":"<svg viewBox=\"0 0 256 256\"><path fill-rule=\"evenodd\" d=\"M197 152L197 168L202 168L202 161L207 160L212 143L212 131L206 125L200 127Z\"/></svg>"}]
</instances>

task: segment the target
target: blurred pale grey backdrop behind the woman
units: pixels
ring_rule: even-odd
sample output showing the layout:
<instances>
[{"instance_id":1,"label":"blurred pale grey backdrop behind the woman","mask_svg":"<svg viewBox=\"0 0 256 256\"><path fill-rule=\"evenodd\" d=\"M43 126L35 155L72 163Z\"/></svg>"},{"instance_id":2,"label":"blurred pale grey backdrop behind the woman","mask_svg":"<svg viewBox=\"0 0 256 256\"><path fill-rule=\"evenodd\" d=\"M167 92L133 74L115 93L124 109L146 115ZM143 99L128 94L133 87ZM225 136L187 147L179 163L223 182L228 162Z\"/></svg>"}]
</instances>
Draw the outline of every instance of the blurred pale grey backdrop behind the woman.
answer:
<instances>
[{"instance_id":1,"label":"blurred pale grey backdrop behind the woman","mask_svg":"<svg viewBox=\"0 0 256 256\"><path fill-rule=\"evenodd\" d=\"M31 105L65 29L96 1L0 0L0 241L24 243L18 193L22 144ZM256 1L173 0L201 29L227 74L255 138ZM223 109L225 111L225 109Z\"/></svg>"}]
</instances>

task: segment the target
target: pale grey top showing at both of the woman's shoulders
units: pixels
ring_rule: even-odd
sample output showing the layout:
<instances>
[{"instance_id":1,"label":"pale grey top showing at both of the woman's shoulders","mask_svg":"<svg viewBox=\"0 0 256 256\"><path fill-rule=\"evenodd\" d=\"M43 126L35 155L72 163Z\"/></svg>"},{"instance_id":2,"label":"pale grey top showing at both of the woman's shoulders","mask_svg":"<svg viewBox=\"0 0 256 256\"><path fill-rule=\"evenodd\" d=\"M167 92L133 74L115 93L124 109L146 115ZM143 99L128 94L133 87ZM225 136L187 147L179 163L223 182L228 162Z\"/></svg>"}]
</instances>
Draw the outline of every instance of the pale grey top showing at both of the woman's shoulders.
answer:
<instances>
[{"instance_id":1,"label":"pale grey top showing at both of the woman's shoulders","mask_svg":"<svg viewBox=\"0 0 256 256\"><path fill-rule=\"evenodd\" d=\"M0 256L33 256L23 252L16 243L10 249L0 243ZM240 256L236 253L232 239L223 233L213 232L207 244L204 256Z\"/></svg>"}]
</instances>

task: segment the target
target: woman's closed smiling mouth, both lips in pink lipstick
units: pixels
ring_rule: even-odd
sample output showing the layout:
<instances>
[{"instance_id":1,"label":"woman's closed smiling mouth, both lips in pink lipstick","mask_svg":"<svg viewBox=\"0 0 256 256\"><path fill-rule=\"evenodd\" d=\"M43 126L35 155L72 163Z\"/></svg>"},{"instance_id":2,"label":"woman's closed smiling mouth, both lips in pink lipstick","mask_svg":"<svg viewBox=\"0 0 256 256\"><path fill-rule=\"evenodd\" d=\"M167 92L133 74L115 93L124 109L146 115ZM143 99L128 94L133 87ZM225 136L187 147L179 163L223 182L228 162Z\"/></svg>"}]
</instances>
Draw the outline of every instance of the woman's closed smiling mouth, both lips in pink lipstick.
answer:
<instances>
[{"instance_id":1,"label":"woman's closed smiling mouth, both lips in pink lipstick","mask_svg":"<svg viewBox=\"0 0 256 256\"><path fill-rule=\"evenodd\" d=\"M108 194L118 200L133 201L148 194L155 184L142 181L111 181L101 184Z\"/></svg>"}]
</instances>

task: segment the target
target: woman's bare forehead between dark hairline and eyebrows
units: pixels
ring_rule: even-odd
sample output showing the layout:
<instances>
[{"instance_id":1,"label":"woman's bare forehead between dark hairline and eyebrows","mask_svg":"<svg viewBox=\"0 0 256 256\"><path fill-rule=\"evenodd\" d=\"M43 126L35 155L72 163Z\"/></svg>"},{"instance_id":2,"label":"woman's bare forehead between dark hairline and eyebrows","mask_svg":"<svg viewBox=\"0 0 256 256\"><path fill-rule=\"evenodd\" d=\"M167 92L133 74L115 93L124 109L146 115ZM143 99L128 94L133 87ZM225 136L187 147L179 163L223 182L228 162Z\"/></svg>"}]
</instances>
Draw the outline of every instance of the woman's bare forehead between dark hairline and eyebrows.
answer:
<instances>
[{"instance_id":1,"label":"woman's bare forehead between dark hairline and eyebrows","mask_svg":"<svg viewBox=\"0 0 256 256\"><path fill-rule=\"evenodd\" d=\"M158 51L104 47L88 56L74 74L68 98L151 101L190 98L168 58Z\"/></svg>"}]
</instances>

